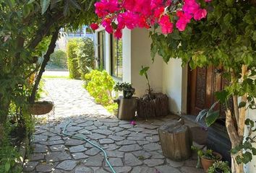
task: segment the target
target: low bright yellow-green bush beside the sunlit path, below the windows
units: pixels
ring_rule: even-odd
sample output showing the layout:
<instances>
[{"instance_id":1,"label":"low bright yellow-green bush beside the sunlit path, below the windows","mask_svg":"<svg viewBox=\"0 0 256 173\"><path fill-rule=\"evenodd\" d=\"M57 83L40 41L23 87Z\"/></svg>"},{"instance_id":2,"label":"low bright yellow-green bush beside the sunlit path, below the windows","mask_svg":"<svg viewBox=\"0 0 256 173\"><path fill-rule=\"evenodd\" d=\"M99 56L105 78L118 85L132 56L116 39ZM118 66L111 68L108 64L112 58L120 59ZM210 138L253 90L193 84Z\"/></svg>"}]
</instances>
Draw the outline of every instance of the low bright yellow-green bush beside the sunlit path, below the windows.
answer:
<instances>
[{"instance_id":1,"label":"low bright yellow-green bush beside the sunlit path, below the windows","mask_svg":"<svg viewBox=\"0 0 256 173\"><path fill-rule=\"evenodd\" d=\"M87 80L85 88L96 102L103 106L113 102L111 92L114 88L114 80L106 71L90 71L89 74L85 74L85 80Z\"/></svg>"}]
</instances>

